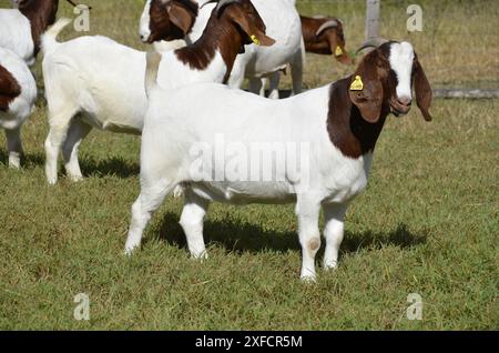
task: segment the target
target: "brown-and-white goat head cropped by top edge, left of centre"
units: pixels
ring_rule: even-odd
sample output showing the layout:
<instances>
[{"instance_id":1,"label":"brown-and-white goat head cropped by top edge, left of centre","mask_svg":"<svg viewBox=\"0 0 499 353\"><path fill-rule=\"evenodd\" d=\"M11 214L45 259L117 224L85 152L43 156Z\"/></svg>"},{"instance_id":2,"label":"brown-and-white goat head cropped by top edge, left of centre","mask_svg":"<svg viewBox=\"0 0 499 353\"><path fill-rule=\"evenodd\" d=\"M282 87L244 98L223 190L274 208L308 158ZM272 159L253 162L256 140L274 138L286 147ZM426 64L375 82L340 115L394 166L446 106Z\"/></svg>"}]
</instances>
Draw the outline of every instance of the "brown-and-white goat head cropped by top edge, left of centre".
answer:
<instances>
[{"instance_id":1,"label":"brown-and-white goat head cropped by top edge, left of centre","mask_svg":"<svg viewBox=\"0 0 499 353\"><path fill-rule=\"evenodd\" d=\"M183 39L192 29L198 7L192 0L147 0L141 17L143 42Z\"/></svg>"}]
</instances>

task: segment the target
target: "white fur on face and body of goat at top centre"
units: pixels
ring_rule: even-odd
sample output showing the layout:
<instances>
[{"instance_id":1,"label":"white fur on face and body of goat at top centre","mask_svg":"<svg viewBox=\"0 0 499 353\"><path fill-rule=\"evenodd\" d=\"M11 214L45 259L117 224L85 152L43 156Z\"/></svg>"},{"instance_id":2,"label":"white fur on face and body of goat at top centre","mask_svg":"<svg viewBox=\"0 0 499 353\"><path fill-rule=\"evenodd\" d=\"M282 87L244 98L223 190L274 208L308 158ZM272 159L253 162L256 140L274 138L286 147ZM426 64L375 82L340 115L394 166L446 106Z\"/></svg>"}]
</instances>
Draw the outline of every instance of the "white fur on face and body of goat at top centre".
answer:
<instances>
[{"instance_id":1,"label":"white fur on face and body of goat at top centre","mask_svg":"<svg viewBox=\"0 0 499 353\"><path fill-rule=\"evenodd\" d=\"M206 0L193 0L200 8ZM305 60L302 37L302 22L294 0L252 0L266 26L266 34L276 40L272 47L246 46L246 52L237 56L234 62L228 85L241 88L244 79L251 81L252 92L261 93L261 78L282 70L289 63L292 67L293 92L302 92L303 64ZM150 3L145 4L141 18L140 34L147 39L150 31ZM203 33L210 16L216 4L206 4L200 9L192 31L185 38L187 43L195 42ZM271 98L278 98L277 88L271 88Z\"/></svg>"}]
</instances>

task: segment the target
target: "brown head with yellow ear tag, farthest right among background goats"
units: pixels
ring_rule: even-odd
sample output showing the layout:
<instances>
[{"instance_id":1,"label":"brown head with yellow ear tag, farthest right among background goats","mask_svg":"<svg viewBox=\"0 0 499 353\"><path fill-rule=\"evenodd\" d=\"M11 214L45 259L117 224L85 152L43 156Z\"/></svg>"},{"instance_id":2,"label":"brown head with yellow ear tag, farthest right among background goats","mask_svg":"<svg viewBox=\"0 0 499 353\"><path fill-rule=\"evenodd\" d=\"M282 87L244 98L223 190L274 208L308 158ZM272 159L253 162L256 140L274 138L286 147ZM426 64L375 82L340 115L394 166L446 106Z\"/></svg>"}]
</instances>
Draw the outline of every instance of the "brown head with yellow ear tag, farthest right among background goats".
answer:
<instances>
[{"instance_id":1,"label":"brown head with yellow ear tag, farthest right among background goats","mask_svg":"<svg viewBox=\"0 0 499 353\"><path fill-rule=\"evenodd\" d=\"M333 56L342 63L352 64L354 60L348 54L343 31L343 22L339 19L327 19L315 32L317 40L325 40L329 43Z\"/></svg>"}]
</instances>

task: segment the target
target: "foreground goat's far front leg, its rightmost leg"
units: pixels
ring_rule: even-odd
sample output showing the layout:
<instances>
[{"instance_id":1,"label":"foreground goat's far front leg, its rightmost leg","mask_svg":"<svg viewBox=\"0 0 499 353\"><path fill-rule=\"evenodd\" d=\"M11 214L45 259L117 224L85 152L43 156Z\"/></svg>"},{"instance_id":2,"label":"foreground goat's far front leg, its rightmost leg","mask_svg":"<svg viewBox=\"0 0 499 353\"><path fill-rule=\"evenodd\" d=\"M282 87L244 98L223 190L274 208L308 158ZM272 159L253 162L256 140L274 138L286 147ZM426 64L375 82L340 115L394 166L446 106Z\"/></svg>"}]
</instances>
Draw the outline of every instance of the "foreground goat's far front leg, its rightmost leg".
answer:
<instances>
[{"instance_id":1,"label":"foreground goat's far front leg, its rightmost leg","mask_svg":"<svg viewBox=\"0 0 499 353\"><path fill-rule=\"evenodd\" d=\"M325 204L324 208L324 238L326 252L324 253L324 269L332 270L338 266L338 252L344 236L344 224L347 204Z\"/></svg>"}]
</instances>

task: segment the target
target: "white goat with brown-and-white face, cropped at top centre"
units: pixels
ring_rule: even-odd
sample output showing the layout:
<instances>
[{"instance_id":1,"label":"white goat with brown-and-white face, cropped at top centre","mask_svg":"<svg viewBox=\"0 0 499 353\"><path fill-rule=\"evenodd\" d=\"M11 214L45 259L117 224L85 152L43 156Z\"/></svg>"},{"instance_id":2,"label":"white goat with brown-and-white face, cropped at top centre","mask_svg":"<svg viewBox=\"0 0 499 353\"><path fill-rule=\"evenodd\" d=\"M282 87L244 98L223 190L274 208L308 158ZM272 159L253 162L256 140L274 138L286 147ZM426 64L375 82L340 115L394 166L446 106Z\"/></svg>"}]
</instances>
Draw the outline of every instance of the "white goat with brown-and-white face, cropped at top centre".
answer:
<instances>
[{"instance_id":1,"label":"white goat with brown-and-white face, cropped at top centre","mask_svg":"<svg viewBox=\"0 0 499 353\"><path fill-rule=\"evenodd\" d=\"M238 0L223 0L228 4ZM203 33L214 4L206 0L147 0L141 18L140 34L144 42L185 38L187 43L196 41ZM291 64L293 92L302 92L302 75L305 48L302 24L295 0L253 0L267 26L267 34L276 40L271 48L248 47L237 57L228 85L241 88L244 78L249 79L249 90L259 93L262 77ZM277 89L269 98L278 98Z\"/></svg>"}]
</instances>

